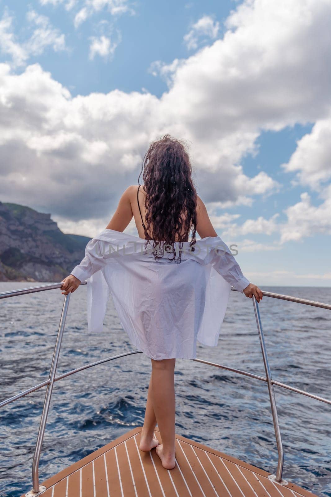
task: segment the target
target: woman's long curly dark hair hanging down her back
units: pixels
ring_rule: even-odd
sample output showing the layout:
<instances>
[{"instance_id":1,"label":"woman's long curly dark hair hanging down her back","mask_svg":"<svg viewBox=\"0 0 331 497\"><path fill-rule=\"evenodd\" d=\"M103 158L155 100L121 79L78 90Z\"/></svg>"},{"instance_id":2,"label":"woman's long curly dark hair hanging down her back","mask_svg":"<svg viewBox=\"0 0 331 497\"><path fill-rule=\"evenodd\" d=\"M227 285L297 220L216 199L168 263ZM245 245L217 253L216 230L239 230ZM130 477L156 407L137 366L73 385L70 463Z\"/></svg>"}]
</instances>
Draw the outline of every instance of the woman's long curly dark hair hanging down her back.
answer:
<instances>
[{"instance_id":1,"label":"woman's long curly dark hair hanging down her back","mask_svg":"<svg viewBox=\"0 0 331 497\"><path fill-rule=\"evenodd\" d=\"M197 224L197 191L192 180L192 166L184 142L172 138L169 134L152 142L145 153L141 171L146 191L144 207L146 209L146 227L144 230L147 242L145 249L153 240L155 259L163 257L163 247L172 246L173 258L181 261L182 242L189 241L192 230L190 250L194 251ZM185 215L185 219L183 219ZM147 233L153 224L153 234ZM184 231L183 231L184 228ZM173 247L178 237L179 256ZM159 248L159 251L156 250ZM192 248L191 248L192 247ZM169 251L166 250L168 253Z\"/></svg>"}]
</instances>

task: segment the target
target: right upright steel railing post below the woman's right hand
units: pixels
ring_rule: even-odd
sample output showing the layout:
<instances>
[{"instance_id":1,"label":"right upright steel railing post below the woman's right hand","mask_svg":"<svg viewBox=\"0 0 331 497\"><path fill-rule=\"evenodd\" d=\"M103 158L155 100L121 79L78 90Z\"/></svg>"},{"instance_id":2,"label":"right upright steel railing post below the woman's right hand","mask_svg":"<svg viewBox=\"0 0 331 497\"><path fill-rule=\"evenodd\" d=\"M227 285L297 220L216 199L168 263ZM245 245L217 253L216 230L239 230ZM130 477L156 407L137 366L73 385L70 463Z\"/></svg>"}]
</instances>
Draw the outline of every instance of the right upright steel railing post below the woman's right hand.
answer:
<instances>
[{"instance_id":1,"label":"right upright steel railing post below the woman's right hand","mask_svg":"<svg viewBox=\"0 0 331 497\"><path fill-rule=\"evenodd\" d=\"M268 391L269 391L269 399L270 399L273 427L274 427L274 431L275 431L275 435L276 435L276 443L277 443L277 450L278 450L277 474L276 474L276 476L270 475L269 478L270 478L270 480L276 481L277 483L280 483L282 485L287 485L288 482L286 480L281 479L282 473L283 473L283 464L284 464L283 443L281 440L281 433L280 433L280 427L279 427L275 394L273 391L273 384L271 381L272 380L271 370L270 370L270 366L269 366L268 356L266 353L265 336L264 336L264 333L262 330L262 323L261 323L261 318L260 318L260 311L259 311L258 302L257 302L254 295L253 295L252 299L253 299L256 324L257 324L258 332L259 332L262 357L263 357L263 362L265 365L266 383L267 383Z\"/></svg>"}]
</instances>

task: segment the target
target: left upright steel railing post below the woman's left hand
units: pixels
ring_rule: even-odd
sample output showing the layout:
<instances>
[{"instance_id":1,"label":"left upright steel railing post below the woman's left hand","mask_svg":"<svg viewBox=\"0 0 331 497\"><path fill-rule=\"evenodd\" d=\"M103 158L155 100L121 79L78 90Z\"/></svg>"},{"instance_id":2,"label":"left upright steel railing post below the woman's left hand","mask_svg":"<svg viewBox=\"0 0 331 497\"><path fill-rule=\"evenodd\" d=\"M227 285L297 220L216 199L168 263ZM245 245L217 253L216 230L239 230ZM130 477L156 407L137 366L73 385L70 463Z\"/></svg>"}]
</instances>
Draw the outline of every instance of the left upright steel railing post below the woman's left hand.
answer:
<instances>
[{"instance_id":1,"label":"left upright steel railing post below the woman's left hand","mask_svg":"<svg viewBox=\"0 0 331 497\"><path fill-rule=\"evenodd\" d=\"M34 451L33 464L32 464L32 486L33 486L33 488L27 494L25 494L26 497L36 496L40 492L43 492L44 490L46 490L46 487L44 487L43 485L39 486L39 459L40 459L41 447L42 447L43 439L44 439L47 415L48 415L48 411L50 408L50 402L51 402L51 397L52 397L52 392L53 392L55 373L56 373L56 369L57 369L57 365L58 365L62 337L63 337L63 333L65 330L66 314L68 311L69 302L70 302L70 293L68 293L65 296L65 300L63 303L61 319L60 319L60 324L59 324L59 330L58 330L58 336L57 336L57 340L56 340L55 347L54 347L53 360L52 360L50 376L49 376L50 383L47 385L43 412L42 412L41 418L40 418L39 431L38 431L36 448Z\"/></svg>"}]
</instances>

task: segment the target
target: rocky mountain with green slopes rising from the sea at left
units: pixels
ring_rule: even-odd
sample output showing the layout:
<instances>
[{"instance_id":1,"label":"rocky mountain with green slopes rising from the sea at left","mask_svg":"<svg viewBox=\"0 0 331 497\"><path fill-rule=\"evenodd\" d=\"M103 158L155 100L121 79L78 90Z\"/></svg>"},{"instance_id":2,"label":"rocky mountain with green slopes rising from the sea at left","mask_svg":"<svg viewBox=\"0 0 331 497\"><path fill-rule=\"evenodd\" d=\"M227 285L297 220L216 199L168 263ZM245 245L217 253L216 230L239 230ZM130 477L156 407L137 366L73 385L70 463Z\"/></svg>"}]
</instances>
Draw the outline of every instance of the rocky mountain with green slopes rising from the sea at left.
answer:
<instances>
[{"instance_id":1,"label":"rocky mountain with green slopes rising from the sea at left","mask_svg":"<svg viewBox=\"0 0 331 497\"><path fill-rule=\"evenodd\" d=\"M62 281L89 240L62 233L51 214L0 202L0 281Z\"/></svg>"}]
</instances>

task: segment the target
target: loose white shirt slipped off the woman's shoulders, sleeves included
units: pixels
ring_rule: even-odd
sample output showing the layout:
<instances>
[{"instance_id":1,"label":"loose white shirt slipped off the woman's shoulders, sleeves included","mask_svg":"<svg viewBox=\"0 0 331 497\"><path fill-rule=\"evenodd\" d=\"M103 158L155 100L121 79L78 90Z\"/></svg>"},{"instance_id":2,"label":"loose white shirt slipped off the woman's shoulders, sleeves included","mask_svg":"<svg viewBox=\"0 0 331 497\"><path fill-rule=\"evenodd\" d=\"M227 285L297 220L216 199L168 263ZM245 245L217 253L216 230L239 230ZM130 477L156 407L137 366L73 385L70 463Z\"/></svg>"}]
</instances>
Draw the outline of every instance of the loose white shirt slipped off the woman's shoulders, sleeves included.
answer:
<instances>
[{"instance_id":1,"label":"loose white shirt slipped off the woman's shoulders, sleeves included","mask_svg":"<svg viewBox=\"0 0 331 497\"><path fill-rule=\"evenodd\" d=\"M197 340L215 346L231 285L243 291L249 280L219 236L172 244L155 260L153 244L115 230L88 242L71 274L87 279L88 330L102 331L110 293L132 345L156 360L196 358ZM169 247L169 246L168 246ZM161 253L158 251L158 253Z\"/></svg>"}]
</instances>

